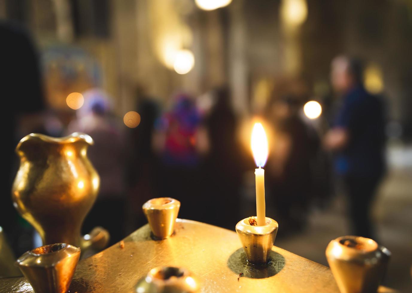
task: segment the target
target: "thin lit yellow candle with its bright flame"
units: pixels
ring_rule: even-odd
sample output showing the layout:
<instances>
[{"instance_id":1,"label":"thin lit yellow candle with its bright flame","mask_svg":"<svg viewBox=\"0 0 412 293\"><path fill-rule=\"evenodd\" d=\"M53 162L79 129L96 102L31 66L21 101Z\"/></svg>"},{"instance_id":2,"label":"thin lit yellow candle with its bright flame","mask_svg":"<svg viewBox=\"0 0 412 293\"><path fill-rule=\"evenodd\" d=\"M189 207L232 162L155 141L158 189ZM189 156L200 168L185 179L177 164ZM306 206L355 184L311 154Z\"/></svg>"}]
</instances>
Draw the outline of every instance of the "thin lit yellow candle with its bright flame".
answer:
<instances>
[{"instance_id":1,"label":"thin lit yellow candle with its bright flame","mask_svg":"<svg viewBox=\"0 0 412 293\"><path fill-rule=\"evenodd\" d=\"M265 130L261 123L255 123L252 130L252 153L255 158L256 166L256 216L258 226L266 224L265 215L265 170L262 169L266 164L268 155L268 144Z\"/></svg>"}]
</instances>

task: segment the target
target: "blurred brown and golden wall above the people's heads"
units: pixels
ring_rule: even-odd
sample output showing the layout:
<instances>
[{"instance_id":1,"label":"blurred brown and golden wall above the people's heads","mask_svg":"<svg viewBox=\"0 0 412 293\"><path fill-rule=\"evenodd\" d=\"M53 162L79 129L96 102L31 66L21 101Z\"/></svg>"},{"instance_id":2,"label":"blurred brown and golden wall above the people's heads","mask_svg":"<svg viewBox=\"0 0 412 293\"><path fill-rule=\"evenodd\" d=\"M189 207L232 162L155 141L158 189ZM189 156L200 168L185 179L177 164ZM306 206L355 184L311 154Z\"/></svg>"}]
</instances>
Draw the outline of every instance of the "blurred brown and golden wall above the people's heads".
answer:
<instances>
[{"instance_id":1,"label":"blurred brown and golden wall above the people's heads","mask_svg":"<svg viewBox=\"0 0 412 293\"><path fill-rule=\"evenodd\" d=\"M3 0L0 17L23 23L42 49L63 44L96 58L122 115L134 108L137 88L167 104L176 91L225 83L236 111L248 113L262 81L304 74L327 88L330 60L350 53L381 71L391 119L412 137L411 2L300 2L307 14L293 26L281 16L287 0L233 0L213 11L193 0ZM194 53L189 73L165 65L173 46Z\"/></svg>"}]
</instances>

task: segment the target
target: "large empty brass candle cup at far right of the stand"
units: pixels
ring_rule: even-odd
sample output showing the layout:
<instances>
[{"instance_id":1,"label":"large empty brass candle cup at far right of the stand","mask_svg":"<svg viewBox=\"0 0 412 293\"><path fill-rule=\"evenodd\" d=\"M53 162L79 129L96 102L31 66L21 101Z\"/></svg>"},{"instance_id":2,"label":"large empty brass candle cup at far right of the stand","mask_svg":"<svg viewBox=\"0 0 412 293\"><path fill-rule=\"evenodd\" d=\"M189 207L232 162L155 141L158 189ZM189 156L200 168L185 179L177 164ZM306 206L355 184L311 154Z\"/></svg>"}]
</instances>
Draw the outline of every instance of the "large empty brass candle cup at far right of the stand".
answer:
<instances>
[{"instance_id":1,"label":"large empty brass candle cup at far right of the stand","mask_svg":"<svg viewBox=\"0 0 412 293\"><path fill-rule=\"evenodd\" d=\"M332 240L326 258L342 293L376 292L391 253L374 240L343 236Z\"/></svg>"}]
</instances>

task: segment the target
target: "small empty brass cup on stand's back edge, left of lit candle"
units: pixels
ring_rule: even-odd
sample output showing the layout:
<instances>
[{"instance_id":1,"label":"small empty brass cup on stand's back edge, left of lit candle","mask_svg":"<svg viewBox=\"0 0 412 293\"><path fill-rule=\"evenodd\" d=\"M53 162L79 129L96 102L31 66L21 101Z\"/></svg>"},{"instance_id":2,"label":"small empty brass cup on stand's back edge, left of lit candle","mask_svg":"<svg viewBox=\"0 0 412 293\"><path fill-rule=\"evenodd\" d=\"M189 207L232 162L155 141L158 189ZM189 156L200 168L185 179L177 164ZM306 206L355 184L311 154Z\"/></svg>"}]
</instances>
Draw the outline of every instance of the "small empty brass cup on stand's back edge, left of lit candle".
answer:
<instances>
[{"instance_id":1,"label":"small empty brass cup on stand's back edge, left of lit candle","mask_svg":"<svg viewBox=\"0 0 412 293\"><path fill-rule=\"evenodd\" d=\"M180 201L174 198L152 198L142 208L153 235L165 239L173 234Z\"/></svg>"}]
</instances>

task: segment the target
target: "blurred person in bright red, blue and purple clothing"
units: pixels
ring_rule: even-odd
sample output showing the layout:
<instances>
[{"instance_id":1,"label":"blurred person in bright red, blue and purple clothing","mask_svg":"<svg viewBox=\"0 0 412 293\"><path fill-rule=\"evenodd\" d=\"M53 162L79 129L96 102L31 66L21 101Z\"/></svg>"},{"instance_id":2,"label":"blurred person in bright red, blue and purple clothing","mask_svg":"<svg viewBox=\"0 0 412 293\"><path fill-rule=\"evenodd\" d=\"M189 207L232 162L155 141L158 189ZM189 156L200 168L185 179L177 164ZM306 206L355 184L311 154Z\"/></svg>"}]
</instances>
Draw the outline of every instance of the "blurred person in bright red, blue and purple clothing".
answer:
<instances>
[{"instance_id":1,"label":"blurred person in bright red, blue and purple clothing","mask_svg":"<svg viewBox=\"0 0 412 293\"><path fill-rule=\"evenodd\" d=\"M179 216L185 219L201 219L199 205L199 153L197 133L201 115L189 95L174 98L170 111L156 122L153 136L155 150L159 154L161 170L156 176L159 196L180 200Z\"/></svg>"}]
</instances>

